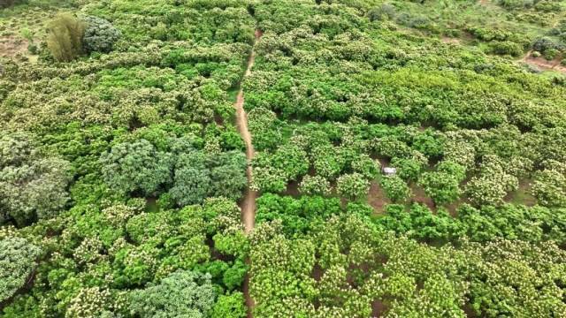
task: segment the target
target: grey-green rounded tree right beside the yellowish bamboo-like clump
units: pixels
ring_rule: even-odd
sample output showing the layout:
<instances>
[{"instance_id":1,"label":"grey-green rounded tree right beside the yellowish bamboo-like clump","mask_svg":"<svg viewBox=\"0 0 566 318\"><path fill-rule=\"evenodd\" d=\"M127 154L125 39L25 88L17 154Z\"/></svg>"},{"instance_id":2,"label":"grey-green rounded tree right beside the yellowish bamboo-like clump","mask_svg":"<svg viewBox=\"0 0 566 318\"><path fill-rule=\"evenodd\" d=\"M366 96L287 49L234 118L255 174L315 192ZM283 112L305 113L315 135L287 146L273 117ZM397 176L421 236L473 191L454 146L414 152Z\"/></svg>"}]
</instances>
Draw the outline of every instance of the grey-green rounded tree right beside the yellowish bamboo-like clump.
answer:
<instances>
[{"instance_id":1,"label":"grey-green rounded tree right beside the yellowish bamboo-like clump","mask_svg":"<svg viewBox=\"0 0 566 318\"><path fill-rule=\"evenodd\" d=\"M87 52L110 52L122 35L108 20L92 16L82 20L86 25L82 43Z\"/></svg>"}]
</instances>

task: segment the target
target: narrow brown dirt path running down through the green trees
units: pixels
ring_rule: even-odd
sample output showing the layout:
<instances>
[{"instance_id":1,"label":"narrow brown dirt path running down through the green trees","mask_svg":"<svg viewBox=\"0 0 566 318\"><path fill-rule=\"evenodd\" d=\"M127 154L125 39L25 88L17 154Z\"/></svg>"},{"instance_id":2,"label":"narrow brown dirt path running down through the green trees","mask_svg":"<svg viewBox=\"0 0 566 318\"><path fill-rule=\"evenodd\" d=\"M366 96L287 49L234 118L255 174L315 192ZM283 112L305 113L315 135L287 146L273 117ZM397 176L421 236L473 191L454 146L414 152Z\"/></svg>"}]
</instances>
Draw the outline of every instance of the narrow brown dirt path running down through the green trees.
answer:
<instances>
[{"instance_id":1,"label":"narrow brown dirt path running down through the green trees","mask_svg":"<svg viewBox=\"0 0 566 318\"><path fill-rule=\"evenodd\" d=\"M251 73L251 68L254 66L254 61L256 60L256 43L259 41L261 36L262 32L260 30L256 30L256 39L248 58L248 67L246 68L246 72L244 72L241 81L243 81L243 79ZM246 158L248 158L248 169L246 170L246 174L248 176L248 185L250 185L253 178L250 163L254 158L255 151L254 145L251 143L251 133L249 133L248 129L248 114L246 114L246 111L244 110L244 91L241 84L240 91L238 91L236 102L233 107L236 109L236 125L238 126L238 132L246 145ZM249 232L254 229L256 221L256 197L256 191L251 190L248 186L248 189L246 189L246 193L244 194L244 199L241 201L240 205L241 221L244 223L244 231L246 231L246 234L249 234ZM247 262L249 263L249 260ZM243 292L246 299L246 307L248 307L248 317L251 318L252 309L255 306L255 303L254 299L251 299L249 296L249 275L246 275L244 280Z\"/></svg>"}]
</instances>

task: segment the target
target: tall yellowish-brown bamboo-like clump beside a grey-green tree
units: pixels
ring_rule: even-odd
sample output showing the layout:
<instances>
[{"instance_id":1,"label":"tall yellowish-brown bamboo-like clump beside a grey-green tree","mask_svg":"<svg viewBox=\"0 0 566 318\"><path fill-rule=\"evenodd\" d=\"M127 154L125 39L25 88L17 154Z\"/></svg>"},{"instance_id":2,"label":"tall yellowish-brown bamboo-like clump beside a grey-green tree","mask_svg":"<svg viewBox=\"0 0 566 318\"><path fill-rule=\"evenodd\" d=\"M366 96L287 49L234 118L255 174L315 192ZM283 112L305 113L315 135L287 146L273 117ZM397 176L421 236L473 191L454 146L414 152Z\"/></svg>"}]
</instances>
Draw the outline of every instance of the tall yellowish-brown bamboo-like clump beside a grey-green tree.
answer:
<instances>
[{"instance_id":1,"label":"tall yellowish-brown bamboo-like clump beside a grey-green tree","mask_svg":"<svg viewBox=\"0 0 566 318\"><path fill-rule=\"evenodd\" d=\"M48 25L47 47L59 62L69 62L82 53L85 26L71 13L60 13Z\"/></svg>"}]
</instances>

